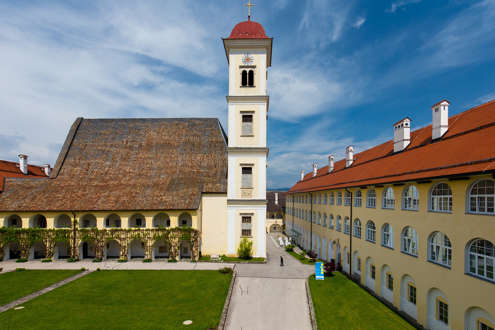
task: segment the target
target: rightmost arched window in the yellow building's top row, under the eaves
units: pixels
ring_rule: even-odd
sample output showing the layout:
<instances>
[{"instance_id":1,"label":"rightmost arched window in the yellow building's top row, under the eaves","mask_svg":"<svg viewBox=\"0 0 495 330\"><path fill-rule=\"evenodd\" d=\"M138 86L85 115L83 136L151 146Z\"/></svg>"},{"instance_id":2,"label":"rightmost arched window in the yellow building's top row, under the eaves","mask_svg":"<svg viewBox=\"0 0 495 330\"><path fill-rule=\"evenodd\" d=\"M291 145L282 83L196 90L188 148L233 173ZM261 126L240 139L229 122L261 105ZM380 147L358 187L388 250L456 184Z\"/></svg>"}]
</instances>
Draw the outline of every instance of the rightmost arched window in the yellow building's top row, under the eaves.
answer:
<instances>
[{"instance_id":1,"label":"rightmost arched window in the yellow building's top row, under the eaves","mask_svg":"<svg viewBox=\"0 0 495 330\"><path fill-rule=\"evenodd\" d=\"M495 214L495 181L478 181L469 191L469 212Z\"/></svg>"}]
</instances>

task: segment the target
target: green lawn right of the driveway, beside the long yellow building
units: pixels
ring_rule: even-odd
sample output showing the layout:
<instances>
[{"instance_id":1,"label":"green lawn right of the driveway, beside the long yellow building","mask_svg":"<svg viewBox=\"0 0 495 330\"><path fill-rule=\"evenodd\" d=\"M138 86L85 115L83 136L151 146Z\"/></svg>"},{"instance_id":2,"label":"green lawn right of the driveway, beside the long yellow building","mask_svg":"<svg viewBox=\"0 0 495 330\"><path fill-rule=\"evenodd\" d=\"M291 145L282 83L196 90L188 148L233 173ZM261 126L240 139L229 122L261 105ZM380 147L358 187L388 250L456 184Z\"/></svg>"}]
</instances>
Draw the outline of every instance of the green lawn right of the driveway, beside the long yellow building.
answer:
<instances>
[{"instance_id":1,"label":"green lawn right of the driveway, beside the long yellow building","mask_svg":"<svg viewBox=\"0 0 495 330\"><path fill-rule=\"evenodd\" d=\"M359 285L334 275L323 281L309 277L318 329L415 329Z\"/></svg>"}]
</instances>

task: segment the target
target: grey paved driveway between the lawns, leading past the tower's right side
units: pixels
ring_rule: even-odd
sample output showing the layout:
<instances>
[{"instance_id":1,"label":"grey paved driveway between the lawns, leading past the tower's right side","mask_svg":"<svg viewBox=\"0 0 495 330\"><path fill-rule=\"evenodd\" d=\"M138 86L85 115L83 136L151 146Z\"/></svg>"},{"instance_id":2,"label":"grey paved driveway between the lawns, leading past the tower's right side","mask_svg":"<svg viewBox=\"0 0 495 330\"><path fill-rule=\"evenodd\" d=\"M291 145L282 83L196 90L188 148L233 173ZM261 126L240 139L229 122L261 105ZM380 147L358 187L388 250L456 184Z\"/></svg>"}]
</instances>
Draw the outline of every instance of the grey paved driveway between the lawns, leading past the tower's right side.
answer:
<instances>
[{"instance_id":1,"label":"grey paved driveway between the lawns, leading past the tower's right side","mask_svg":"<svg viewBox=\"0 0 495 330\"><path fill-rule=\"evenodd\" d=\"M226 330L312 329L305 283L314 266L302 265L273 236L266 236L266 264L236 265Z\"/></svg>"}]
</instances>

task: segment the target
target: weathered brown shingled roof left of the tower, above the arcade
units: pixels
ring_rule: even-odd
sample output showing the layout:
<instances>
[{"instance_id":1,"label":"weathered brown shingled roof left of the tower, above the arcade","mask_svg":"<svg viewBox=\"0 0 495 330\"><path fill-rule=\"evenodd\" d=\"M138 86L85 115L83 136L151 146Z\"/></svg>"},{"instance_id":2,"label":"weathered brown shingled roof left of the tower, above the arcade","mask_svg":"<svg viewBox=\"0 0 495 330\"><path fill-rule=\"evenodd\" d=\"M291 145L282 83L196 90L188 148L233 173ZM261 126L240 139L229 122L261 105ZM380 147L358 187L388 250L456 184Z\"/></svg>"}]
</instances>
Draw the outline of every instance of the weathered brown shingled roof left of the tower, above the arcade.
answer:
<instances>
[{"instance_id":1,"label":"weathered brown shingled roof left of the tower, above the arcade","mask_svg":"<svg viewBox=\"0 0 495 330\"><path fill-rule=\"evenodd\" d=\"M50 179L6 178L0 210L198 209L227 191L226 146L216 118L78 118Z\"/></svg>"}]
</instances>

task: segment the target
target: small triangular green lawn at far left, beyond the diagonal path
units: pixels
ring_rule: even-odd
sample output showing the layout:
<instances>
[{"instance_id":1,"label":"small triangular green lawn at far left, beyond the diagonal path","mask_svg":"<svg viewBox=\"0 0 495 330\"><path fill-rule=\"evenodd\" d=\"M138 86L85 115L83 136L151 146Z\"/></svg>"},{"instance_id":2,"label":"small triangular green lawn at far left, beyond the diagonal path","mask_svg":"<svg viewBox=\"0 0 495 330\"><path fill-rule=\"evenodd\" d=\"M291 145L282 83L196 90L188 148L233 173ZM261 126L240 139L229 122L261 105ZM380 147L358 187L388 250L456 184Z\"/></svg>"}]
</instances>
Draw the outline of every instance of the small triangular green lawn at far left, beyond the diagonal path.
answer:
<instances>
[{"instance_id":1,"label":"small triangular green lawn at far left, beyond the diagonal path","mask_svg":"<svg viewBox=\"0 0 495 330\"><path fill-rule=\"evenodd\" d=\"M79 270L25 270L0 274L0 305L19 299L53 283L80 273Z\"/></svg>"}]
</instances>

